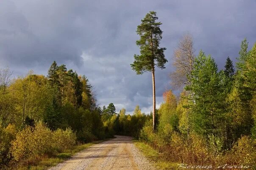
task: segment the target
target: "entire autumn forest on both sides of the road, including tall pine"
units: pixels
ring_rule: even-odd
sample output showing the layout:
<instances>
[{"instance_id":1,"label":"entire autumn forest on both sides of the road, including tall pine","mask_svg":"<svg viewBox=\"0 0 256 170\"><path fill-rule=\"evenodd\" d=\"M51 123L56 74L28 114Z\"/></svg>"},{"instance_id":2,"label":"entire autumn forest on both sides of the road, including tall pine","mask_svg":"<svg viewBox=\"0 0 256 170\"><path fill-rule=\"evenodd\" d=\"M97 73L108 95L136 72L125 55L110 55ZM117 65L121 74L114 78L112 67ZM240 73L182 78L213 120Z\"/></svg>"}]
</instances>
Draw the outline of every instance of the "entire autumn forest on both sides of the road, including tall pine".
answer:
<instances>
[{"instance_id":1,"label":"entire autumn forest on both sides of the road, including tall pine","mask_svg":"<svg viewBox=\"0 0 256 170\"><path fill-rule=\"evenodd\" d=\"M161 69L167 62L165 48L158 49L162 32L155 15L150 12L138 26L141 39L136 44L142 54L134 55L131 65L137 74L151 71L153 78L154 61ZM151 43L145 33L149 20L156 34L151 32ZM185 34L173 54L171 87L163 93L160 108L150 114L142 113L139 105L132 115L125 108L118 112L111 101L100 108L89 79L56 61L47 76L30 71L12 78L11 70L3 68L0 166L128 135L149 144L170 162L256 168L256 43L251 49L248 44L246 38L242 40L235 65L227 57L225 68L220 69L210 54L200 50L195 55L192 35ZM144 65L143 53L150 56L148 51L153 50L157 58ZM154 88L153 79L153 97Z\"/></svg>"}]
</instances>

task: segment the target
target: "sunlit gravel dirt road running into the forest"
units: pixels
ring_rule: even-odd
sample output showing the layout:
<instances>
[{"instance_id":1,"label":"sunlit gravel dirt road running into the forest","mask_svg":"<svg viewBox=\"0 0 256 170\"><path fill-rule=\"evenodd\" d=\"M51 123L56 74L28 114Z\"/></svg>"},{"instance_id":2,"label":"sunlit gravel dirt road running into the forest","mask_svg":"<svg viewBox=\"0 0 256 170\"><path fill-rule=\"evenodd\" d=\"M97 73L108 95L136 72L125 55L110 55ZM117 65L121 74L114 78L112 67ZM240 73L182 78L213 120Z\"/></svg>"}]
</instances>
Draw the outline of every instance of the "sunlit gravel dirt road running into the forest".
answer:
<instances>
[{"instance_id":1,"label":"sunlit gravel dirt road running into the forest","mask_svg":"<svg viewBox=\"0 0 256 170\"><path fill-rule=\"evenodd\" d=\"M116 137L95 144L50 170L154 170L131 137Z\"/></svg>"}]
</instances>

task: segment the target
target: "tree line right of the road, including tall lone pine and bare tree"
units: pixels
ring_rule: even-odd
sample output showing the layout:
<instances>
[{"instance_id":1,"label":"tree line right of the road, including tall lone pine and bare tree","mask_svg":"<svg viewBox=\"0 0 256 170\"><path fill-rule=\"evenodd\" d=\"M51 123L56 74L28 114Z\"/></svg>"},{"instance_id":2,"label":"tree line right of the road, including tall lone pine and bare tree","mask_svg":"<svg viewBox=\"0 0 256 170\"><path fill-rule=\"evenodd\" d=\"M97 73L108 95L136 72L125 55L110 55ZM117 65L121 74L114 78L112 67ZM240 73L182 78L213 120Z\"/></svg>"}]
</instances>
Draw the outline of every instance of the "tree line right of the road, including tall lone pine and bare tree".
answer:
<instances>
[{"instance_id":1,"label":"tree line right of the road, including tall lone pine and bare tree","mask_svg":"<svg viewBox=\"0 0 256 170\"><path fill-rule=\"evenodd\" d=\"M155 66L164 68L165 48L159 48L161 22L156 12L147 13L137 27L140 55L132 69L153 76ZM211 55L195 55L192 35L185 34L173 55L172 90L164 92L164 103L153 119L145 122L140 140L162 152L164 159L191 165L248 165L256 162L256 43L248 49L241 43L236 69L227 57L220 70ZM153 111L155 107L153 106ZM152 129L153 124L153 129Z\"/></svg>"}]
</instances>

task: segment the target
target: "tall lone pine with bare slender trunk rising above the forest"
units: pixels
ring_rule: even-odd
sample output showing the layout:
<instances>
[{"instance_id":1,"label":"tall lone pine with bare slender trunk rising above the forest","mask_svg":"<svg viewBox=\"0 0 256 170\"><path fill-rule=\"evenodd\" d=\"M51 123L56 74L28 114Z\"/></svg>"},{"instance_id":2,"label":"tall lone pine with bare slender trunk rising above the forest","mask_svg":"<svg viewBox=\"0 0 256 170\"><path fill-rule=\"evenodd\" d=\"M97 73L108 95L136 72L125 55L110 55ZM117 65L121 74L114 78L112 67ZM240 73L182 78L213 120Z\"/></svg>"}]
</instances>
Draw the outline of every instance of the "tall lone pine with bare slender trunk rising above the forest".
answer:
<instances>
[{"instance_id":1,"label":"tall lone pine with bare slender trunk rising above the forest","mask_svg":"<svg viewBox=\"0 0 256 170\"><path fill-rule=\"evenodd\" d=\"M136 41L136 45L140 47L140 55L134 54L134 63L131 67L137 74L150 71L153 81L153 130L156 129L156 90L155 90L155 69L156 66L164 69L167 59L164 56L166 48L159 48L162 39L162 31L160 29L161 22L156 22L158 17L156 12L150 11L142 19L142 23L137 27L137 34L140 39Z\"/></svg>"}]
</instances>

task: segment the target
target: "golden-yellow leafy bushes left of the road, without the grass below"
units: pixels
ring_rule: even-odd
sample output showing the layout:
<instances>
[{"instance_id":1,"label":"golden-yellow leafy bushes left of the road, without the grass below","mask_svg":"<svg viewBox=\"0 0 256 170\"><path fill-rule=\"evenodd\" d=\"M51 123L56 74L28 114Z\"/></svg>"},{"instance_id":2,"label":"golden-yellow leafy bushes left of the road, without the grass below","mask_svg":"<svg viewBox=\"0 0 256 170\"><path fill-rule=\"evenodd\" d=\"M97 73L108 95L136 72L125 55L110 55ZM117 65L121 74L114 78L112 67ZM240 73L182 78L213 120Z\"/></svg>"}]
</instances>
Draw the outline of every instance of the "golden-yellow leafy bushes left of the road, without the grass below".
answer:
<instances>
[{"instance_id":1,"label":"golden-yellow leafy bushes left of the road, without the grass below","mask_svg":"<svg viewBox=\"0 0 256 170\"><path fill-rule=\"evenodd\" d=\"M72 130L51 131L42 122L33 127L25 127L17 133L12 142L11 154L19 161L27 157L42 155L49 152L62 151L75 144L75 134Z\"/></svg>"}]
</instances>

